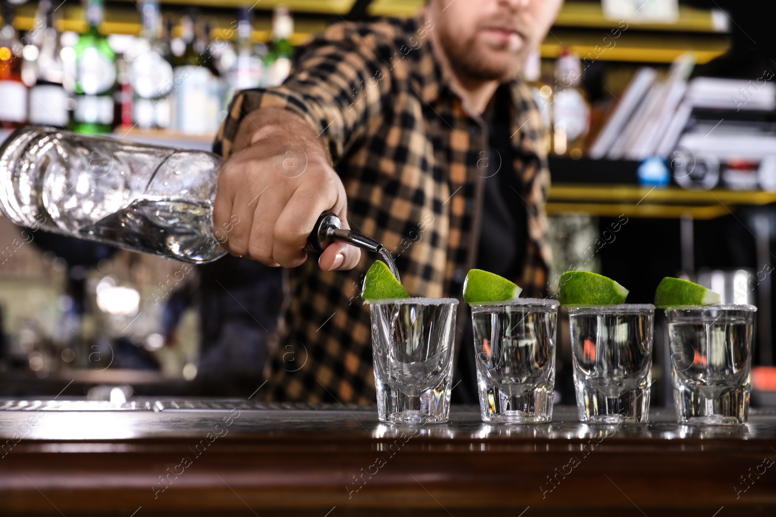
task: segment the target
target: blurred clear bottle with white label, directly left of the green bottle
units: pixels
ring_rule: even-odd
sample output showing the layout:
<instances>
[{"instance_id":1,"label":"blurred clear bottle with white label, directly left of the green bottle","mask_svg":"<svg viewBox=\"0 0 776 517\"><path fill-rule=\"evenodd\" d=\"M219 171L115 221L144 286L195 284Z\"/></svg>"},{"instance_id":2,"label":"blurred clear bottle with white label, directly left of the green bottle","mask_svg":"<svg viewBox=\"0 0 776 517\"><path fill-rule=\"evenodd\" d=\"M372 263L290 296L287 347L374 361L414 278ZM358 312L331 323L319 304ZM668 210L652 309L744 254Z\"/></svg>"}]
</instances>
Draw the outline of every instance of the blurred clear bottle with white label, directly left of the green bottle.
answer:
<instances>
[{"instance_id":1,"label":"blurred clear bottle with white label, directly left of the green bottle","mask_svg":"<svg viewBox=\"0 0 776 517\"><path fill-rule=\"evenodd\" d=\"M29 123L65 127L69 119L69 99L63 86L61 46L50 0L40 0L34 31L40 51L36 52L33 86L29 89Z\"/></svg>"}]
</instances>

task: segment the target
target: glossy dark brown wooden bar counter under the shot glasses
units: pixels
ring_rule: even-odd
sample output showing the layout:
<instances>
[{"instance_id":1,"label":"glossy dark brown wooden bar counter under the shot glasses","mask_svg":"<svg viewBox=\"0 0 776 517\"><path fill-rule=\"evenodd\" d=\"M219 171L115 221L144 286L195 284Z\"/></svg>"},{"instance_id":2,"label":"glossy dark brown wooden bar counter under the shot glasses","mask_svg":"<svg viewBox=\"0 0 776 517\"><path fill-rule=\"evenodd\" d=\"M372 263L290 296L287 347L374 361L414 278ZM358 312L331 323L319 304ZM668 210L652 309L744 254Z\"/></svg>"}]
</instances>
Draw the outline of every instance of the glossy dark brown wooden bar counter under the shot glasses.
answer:
<instances>
[{"instance_id":1,"label":"glossy dark brown wooden bar counter under the shot glasses","mask_svg":"<svg viewBox=\"0 0 776 517\"><path fill-rule=\"evenodd\" d=\"M0 515L776 515L776 412L747 426L390 426L376 408L0 402Z\"/></svg>"}]
</instances>

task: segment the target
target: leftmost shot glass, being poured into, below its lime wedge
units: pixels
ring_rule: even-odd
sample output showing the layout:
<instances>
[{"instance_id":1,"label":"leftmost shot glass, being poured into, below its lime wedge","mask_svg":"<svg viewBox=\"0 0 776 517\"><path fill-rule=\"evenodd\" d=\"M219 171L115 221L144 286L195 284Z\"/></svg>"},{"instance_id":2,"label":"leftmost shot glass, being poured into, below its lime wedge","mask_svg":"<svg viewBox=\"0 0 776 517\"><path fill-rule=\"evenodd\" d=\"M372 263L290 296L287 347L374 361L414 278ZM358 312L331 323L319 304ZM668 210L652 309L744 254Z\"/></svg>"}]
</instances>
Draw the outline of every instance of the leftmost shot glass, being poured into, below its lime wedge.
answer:
<instances>
[{"instance_id":1,"label":"leftmost shot glass, being poured into, below its lime wedge","mask_svg":"<svg viewBox=\"0 0 776 517\"><path fill-rule=\"evenodd\" d=\"M447 422L456 338L455 298L369 302L381 422Z\"/></svg>"}]
</instances>

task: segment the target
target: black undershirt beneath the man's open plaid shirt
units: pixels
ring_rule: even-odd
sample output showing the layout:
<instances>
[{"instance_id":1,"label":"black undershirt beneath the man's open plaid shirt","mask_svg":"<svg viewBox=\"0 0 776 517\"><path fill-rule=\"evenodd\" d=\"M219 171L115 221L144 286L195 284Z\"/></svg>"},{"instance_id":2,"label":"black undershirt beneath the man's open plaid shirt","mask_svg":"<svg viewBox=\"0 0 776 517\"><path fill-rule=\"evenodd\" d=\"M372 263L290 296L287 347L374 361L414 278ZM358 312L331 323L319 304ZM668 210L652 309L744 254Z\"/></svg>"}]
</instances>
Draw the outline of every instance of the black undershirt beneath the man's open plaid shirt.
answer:
<instances>
[{"instance_id":1,"label":"black undershirt beneath the man's open plaid shirt","mask_svg":"<svg viewBox=\"0 0 776 517\"><path fill-rule=\"evenodd\" d=\"M514 171L511 111L509 87L507 84L501 84L483 113L483 120L488 126L490 148L487 167L484 167L483 161L480 161L478 167L480 174L486 178L483 181L480 244L475 267L516 281L521 277L525 261L528 215L525 212L525 201L522 199L525 197L522 181ZM478 402L472 343L472 319L468 317L459 350L456 368L458 384L452 392L452 402Z\"/></svg>"}]
</instances>

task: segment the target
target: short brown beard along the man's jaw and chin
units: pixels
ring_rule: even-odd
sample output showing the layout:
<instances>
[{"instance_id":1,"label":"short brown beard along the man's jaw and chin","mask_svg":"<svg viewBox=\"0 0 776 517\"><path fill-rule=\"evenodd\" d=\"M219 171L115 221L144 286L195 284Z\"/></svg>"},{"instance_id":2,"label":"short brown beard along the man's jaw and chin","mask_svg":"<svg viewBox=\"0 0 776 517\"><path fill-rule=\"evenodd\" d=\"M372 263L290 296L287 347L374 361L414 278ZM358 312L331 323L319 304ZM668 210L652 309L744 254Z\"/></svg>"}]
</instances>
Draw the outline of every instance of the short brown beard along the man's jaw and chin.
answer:
<instances>
[{"instance_id":1,"label":"short brown beard along the man's jaw and chin","mask_svg":"<svg viewBox=\"0 0 776 517\"><path fill-rule=\"evenodd\" d=\"M476 37L476 36L475 36ZM445 30L439 31L439 42L447 56L450 66L463 78L482 81L504 81L517 77L521 63L525 60L523 52L513 53L507 64L483 59L473 52L473 40L461 40Z\"/></svg>"}]
</instances>

